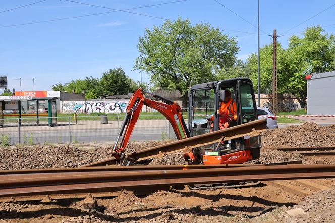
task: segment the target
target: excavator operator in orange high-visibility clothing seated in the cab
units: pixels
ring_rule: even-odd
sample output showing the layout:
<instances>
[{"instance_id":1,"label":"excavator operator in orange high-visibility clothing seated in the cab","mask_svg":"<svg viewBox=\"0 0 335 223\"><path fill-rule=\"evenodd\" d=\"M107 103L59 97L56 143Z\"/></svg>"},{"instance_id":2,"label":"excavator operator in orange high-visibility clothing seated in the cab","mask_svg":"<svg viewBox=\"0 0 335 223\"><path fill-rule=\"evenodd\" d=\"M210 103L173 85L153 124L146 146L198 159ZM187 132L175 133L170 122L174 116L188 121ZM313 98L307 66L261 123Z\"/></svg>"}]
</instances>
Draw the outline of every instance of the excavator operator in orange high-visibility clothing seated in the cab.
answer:
<instances>
[{"instance_id":1,"label":"excavator operator in orange high-visibility clothing seated in the cab","mask_svg":"<svg viewBox=\"0 0 335 223\"><path fill-rule=\"evenodd\" d=\"M224 91L220 92L220 129L227 129L229 126L233 125L237 120L236 113L236 102L232 99L232 93L229 90L225 90L225 100L222 100ZM210 118L209 121L214 121L214 116Z\"/></svg>"}]
</instances>

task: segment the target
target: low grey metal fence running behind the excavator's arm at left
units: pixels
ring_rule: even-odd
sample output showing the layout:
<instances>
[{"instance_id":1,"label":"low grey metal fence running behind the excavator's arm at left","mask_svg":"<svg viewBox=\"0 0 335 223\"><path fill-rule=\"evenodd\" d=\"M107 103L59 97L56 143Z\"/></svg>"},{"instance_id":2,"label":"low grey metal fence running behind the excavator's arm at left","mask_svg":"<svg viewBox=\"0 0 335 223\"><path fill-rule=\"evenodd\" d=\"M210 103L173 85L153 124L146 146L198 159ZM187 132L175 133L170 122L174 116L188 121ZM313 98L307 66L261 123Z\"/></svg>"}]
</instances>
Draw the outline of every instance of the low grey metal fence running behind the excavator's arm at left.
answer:
<instances>
[{"instance_id":1,"label":"low grey metal fence running behind the excavator's arm at left","mask_svg":"<svg viewBox=\"0 0 335 223\"><path fill-rule=\"evenodd\" d=\"M106 117L106 118L105 118ZM123 115L0 119L0 144L47 144L115 141ZM104 122L107 119L107 123ZM51 124L55 121L55 124ZM130 141L169 138L169 122L162 115L142 115Z\"/></svg>"}]
</instances>

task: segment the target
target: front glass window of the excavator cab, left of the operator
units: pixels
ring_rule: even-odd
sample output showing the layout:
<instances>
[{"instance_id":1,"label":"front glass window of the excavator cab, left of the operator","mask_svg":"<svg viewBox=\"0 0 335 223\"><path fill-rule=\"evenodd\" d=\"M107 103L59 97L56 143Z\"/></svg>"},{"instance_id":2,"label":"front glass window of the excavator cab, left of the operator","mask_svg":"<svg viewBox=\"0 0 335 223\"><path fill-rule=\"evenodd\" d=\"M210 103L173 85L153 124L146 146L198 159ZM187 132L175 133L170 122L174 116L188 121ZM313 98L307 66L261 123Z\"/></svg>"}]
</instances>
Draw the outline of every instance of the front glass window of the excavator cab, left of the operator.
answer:
<instances>
[{"instance_id":1,"label":"front glass window of the excavator cab, left of the operator","mask_svg":"<svg viewBox=\"0 0 335 223\"><path fill-rule=\"evenodd\" d=\"M207 121L214 113L214 89L193 92L191 135L210 132L212 121Z\"/></svg>"}]
</instances>

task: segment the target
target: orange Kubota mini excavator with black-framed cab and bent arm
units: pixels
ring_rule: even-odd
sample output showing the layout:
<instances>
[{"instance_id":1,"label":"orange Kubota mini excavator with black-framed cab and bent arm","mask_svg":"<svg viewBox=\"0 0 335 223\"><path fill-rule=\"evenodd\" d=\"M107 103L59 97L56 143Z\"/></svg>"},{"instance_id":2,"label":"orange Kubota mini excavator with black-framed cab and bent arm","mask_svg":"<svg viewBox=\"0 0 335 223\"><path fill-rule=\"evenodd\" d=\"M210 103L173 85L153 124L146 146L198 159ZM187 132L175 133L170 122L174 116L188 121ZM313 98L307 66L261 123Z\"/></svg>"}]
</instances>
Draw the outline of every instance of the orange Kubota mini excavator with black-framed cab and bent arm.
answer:
<instances>
[{"instance_id":1,"label":"orange Kubota mini excavator with black-framed cab and bent arm","mask_svg":"<svg viewBox=\"0 0 335 223\"><path fill-rule=\"evenodd\" d=\"M186 124L181 107L176 101L171 101L159 95L137 89L132 95L123 120L118 139L114 145L113 156L121 165L147 164L125 157L125 150L143 105L151 107L169 120L178 140L219 130L219 107L224 101L225 93L229 90L236 103L235 116L237 119L230 126L248 123L258 119L255 94L249 78L234 78L197 84L189 92L188 123ZM161 102L146 98L151 95ZM213 119L210 119L214 116ZM213 121L209 121L213 120ZM119 143L122 138L121 143ZM118 146L119 145L119 146ZM242 136L219 145L207 145L192 149L185 153L184 158L189 164L241 164L260 156L260 136Z\"/></svg>"}]
</instances>

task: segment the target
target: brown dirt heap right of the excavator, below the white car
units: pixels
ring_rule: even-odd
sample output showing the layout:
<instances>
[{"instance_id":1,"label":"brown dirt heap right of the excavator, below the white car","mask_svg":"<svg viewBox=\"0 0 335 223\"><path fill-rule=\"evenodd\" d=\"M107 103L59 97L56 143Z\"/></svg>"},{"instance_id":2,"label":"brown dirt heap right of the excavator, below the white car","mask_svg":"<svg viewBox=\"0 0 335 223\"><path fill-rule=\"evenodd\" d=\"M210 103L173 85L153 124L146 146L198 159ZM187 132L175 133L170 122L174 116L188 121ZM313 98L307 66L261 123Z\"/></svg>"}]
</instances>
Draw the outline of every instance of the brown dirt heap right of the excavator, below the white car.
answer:
<instances>
[{"instance_id":1,"label":"brown dirt heap right of the excavator, below the white car","mask_svg":"<svg viewBox=\"0 0 335 223\"><path fill-rule=\"evenodd\" d=\"M262 133L263 147L333 146L335 125L320 127L316 123L267 130Z\"/></svg>"}]
</instances>

